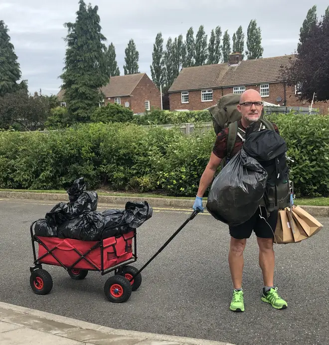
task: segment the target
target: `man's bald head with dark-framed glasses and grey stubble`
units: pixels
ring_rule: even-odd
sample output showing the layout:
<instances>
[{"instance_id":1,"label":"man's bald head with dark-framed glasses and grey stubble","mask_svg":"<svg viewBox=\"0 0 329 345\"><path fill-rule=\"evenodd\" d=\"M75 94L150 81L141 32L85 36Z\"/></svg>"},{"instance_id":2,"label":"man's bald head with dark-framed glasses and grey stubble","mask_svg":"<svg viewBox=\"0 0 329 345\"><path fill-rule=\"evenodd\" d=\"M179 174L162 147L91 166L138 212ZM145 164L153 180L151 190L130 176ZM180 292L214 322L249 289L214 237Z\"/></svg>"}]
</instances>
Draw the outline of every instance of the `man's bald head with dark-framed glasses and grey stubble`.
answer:
<instances>
[{"instance_id":1,"label":"man's bald head with dark-framed glasses and grey stubble","mask_svg":"<svg viewBox=\"0 0 329 345\"><path fill-rule=\"evenodd\" d=\"M241 94L238 110L248 123L259 120L263 110L262 97L256 90L250 89Z\"/></svg>"}]
</instances>

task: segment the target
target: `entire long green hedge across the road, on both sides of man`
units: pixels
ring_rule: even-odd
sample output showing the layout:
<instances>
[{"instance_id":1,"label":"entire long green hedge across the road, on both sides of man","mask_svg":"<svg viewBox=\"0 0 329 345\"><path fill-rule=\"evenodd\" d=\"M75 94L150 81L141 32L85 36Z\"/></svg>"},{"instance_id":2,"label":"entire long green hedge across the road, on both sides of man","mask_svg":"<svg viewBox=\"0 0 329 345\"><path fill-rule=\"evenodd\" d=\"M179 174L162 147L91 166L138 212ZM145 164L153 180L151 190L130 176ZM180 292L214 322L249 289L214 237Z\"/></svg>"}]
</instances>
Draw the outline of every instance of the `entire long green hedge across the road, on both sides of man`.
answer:
<instances>
[{"instance_id":1,"label":"entire long green hedge across the road, on both sides of man","mask_svg":"<svg viewBox=\"0 0 329 345\"><path fill-rule=\"evenodd\" d=\"M329 117L279 115L298 195L329 194ZM134 124L84 124L50 133L0 133L0 188L61 189L84 176L89 188L162 190L194 196L214 132Z\"/></svg>"}]
</instances>

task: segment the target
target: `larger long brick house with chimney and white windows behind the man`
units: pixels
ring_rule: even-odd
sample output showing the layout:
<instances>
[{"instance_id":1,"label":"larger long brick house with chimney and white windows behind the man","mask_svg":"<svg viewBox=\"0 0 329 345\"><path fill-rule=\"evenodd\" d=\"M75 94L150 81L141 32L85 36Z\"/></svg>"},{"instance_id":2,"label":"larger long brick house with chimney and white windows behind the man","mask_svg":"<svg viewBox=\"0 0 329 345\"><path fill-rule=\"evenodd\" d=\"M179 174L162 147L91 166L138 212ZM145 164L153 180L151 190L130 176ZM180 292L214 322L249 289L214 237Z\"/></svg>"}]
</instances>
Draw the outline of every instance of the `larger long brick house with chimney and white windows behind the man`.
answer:
<instances>
[{"instance_id":1,"label":"larger long brick house with chimney and white windows behind the man","mask_svg":"<svg viewBox=\"0 0 329 345\"><path fill-rule=\"evenodd\" d=\"M311 103L298 99L296 86L287 85L282 67L291 55L243 60L231 54L229 62L183 68L168 90L170 110L203 110L214 105L221 96L257 90L263 101L280 106L307 107ZM329 103L316 103L314 108L328 111Z\"/></svg>"}]
</instances>

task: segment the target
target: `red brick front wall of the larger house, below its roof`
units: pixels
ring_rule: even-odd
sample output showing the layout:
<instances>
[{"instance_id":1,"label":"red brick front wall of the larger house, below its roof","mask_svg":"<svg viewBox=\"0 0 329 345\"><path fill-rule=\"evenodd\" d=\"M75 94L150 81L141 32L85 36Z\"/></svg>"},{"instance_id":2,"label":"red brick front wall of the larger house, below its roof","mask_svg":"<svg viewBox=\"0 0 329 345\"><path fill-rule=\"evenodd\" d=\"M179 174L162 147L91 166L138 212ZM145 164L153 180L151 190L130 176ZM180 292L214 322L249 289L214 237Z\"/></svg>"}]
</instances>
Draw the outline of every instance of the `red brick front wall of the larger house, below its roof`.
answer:
<instances>
[{"instance_id":1,"label":"red brick front wall of the larger house, below its roof","mask_svg":"<svg viewBox=\"0 0 329 345\"><path fill-rule=\"evenodd\" d=\"M263 101L273 103L273 104L280 104L284 106L285 100L285 85L284 83L272 83L270 86L270 95L268 97L263 97ZM246 86L246 90L254 89L260 92L260 85L248 85ZM201 90L198 91L189 91L189 103L181 103L181 96L180 92L170 93L169 94L169 101L170 101L170 110L173 111L175 109L187 109L187 110L203 110L214 105L219 98L222 96L222 92L224 95L233 92L233 88L224 88L222 89L213 89L213 101L212 102L201 102ZM277 102L276 99L278 97L282 98L281 102ZM291 107L308 107L311 103L300 101L298 97L295 95L295 87L286 86L286 106ZM316 102L314 104L314 108L319 108L320 113L329 113L329 102Z\"/></svg>"}]
</instances>

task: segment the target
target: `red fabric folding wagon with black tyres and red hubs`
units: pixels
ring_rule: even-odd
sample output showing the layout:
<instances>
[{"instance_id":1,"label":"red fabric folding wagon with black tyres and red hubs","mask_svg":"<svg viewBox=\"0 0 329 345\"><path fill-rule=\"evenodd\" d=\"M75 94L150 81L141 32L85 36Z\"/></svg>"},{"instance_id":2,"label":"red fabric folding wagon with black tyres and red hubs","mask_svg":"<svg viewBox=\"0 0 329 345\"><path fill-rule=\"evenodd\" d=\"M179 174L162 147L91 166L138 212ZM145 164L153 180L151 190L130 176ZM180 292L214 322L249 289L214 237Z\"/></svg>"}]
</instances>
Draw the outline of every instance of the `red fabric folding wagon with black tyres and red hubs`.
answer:
<instances>
[{"instance_id":1,"label":"red fabric folding wagon with black tyres and red hubs","mask_svg":"<svg viewBox=\"0 0 329 345\"><path fill-rule=\"evenodd\" d=\"M140 287L142 276L137 268L129 265L137 260L136 229L100 241L81 241L36 236L33 233L35 223L30 226L34 258L34 266L30 267L30 285L35 294L46 295L53 287L51 275L42 264L61 266L72 279L84 279L88 271L97 271L101 275L114 271L115 275L104 285L105 296L111 302L126 302L132 291Z\"/></svg>"}]
</instances>

